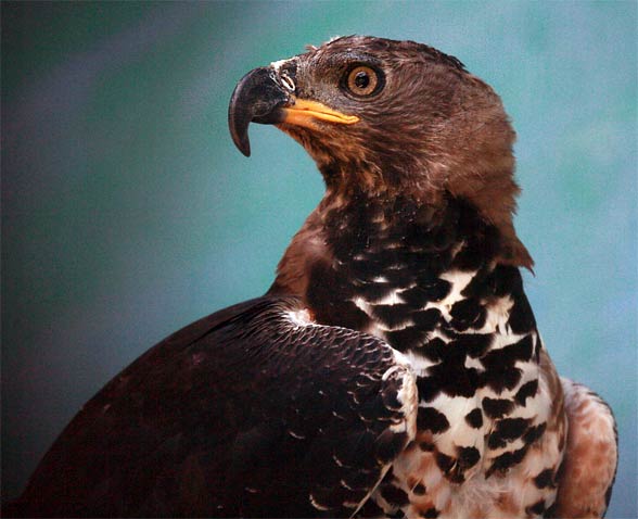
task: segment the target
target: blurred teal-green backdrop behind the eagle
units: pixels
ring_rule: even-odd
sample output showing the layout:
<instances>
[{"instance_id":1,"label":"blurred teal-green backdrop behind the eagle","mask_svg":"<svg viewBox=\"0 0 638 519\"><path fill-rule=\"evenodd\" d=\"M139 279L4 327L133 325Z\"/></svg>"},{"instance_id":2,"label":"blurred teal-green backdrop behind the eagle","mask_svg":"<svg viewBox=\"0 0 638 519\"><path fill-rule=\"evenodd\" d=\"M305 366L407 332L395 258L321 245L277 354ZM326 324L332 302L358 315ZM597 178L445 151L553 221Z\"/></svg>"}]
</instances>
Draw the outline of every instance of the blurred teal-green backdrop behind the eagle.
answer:
<instances>
[{"instance_id":1,"label":"blurred teal-green backdrop behind the eagle","mask_svg":"<svg viewBox=\"0 0 638 519\"><path fill-rule=\"evenodd\" d=\"M2 2L2 495L144 350L261 294L322 194L227 130L237 80L344 34L414 39L501 94L525 276L559 368L616 413L609 517L637 517L637 3Z\"/></svg>"}]
</instances>

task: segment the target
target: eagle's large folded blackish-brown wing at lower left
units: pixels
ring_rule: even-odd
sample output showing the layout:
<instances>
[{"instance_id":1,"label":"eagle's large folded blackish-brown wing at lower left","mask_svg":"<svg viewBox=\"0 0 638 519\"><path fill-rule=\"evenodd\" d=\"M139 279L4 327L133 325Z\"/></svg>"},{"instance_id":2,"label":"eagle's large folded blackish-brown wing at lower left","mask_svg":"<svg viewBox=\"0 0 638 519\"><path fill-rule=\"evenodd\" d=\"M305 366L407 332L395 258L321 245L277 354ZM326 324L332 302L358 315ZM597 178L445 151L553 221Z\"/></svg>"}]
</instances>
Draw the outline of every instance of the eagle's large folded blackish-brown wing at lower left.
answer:
<instances>
[{"instance_id":1,"label":"eagle's large folded blackish-brown wing at lower left","mask_svg":"<svg viewBox=\"0 0 638 519\"><path fill-rule=\"evenodd\" d=\"M44 456L29 516L349 516L413 438L407 360L261 298L115 377Z\"/></svg>"}]
</instances>

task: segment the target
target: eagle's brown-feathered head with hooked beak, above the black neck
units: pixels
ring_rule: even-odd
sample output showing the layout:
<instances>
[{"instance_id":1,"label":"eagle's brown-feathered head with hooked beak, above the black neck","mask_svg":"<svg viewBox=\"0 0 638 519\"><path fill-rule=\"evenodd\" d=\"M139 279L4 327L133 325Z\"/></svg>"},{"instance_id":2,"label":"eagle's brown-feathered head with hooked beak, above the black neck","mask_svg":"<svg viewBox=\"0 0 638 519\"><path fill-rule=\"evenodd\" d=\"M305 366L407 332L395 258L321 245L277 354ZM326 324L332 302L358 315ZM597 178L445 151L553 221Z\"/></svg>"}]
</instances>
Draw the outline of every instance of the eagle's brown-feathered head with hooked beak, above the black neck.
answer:
<instances>
[{"instance_id":1,"label":"eagle's brown-feathered head with hooked beak, above the black neck","mask_svg":"<svg viewBox=\"0 0 638 519\"><path fill-rule=\"evenodd\" d=\"M499 97L456 58L412 41L337 38L244 76L229 124L246 155L251 122L297 140L329 194L467 200L500 229L506 262L532 266L512 225L514 131Z\"/></svg>"}]
</instances>

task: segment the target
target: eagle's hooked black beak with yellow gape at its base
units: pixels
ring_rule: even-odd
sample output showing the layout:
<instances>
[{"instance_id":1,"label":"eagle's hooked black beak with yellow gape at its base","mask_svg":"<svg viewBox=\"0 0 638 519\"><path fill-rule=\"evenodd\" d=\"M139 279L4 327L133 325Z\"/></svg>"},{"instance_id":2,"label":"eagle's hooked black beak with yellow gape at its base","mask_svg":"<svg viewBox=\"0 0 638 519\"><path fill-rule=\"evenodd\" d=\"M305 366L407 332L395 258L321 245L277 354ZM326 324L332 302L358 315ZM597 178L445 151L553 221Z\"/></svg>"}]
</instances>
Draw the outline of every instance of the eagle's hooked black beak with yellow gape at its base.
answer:
<instances>
[{"instance_id":1,"label":"eagle's hooked black beak with yellow gape at its base","mask_svg":"<svg viewBox=\"0 0 638 519\"><path fill-rule=\"evenodd\" d=\"M359 121L356 115L343 114L318 101L298 99L282 85L272 67L259 67L248 72L234 88L228 126L232 141L244 155L251 155L248 125L253 122L312 128L317 121L346 125Z\"/></svg>"}]
</instances>

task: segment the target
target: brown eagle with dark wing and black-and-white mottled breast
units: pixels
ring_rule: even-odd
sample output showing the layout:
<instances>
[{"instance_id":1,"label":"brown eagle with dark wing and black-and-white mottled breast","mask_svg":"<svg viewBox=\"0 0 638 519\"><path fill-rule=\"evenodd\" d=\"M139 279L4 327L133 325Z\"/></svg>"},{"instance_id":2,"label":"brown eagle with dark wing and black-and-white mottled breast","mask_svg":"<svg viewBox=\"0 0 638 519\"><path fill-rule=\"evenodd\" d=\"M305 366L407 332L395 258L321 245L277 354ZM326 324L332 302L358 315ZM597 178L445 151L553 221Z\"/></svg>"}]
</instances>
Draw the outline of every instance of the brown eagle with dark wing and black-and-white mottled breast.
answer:
<instances>
[{"instance_id":1,"label":"brown eagle with dark wing and black-and-white mottled breast","mask_svg":"<svg viewBox=\"0 0 638 519\"><path fill-rule=\"evenodd\" d=\"M342 37L245 75L245 155L252 122L326 182L271 288L115 377L5 511L602 517L614 419L537 331L494 90L431 47Z\"/></svg>"}]
</instances>

